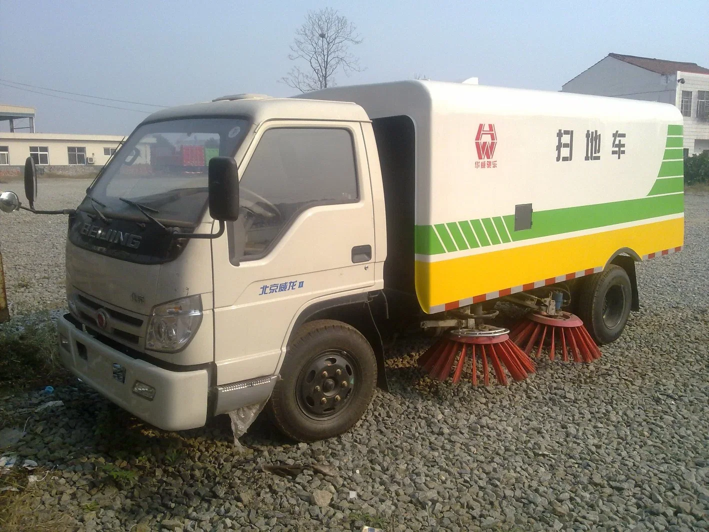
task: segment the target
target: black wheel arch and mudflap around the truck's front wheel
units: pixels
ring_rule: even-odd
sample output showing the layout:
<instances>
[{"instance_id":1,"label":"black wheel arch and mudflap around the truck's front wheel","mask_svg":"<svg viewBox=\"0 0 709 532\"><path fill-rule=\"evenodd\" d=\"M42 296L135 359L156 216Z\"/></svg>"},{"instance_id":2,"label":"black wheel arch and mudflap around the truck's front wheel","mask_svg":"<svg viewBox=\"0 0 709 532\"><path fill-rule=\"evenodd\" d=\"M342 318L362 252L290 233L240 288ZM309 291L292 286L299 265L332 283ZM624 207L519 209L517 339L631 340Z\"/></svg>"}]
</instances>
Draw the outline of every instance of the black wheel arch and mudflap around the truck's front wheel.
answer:
<instances>
[{"instance_id":1,"label":"black wheel arch and mudflap around the truck's front wheel","mask_svg":"<svg viewBox=\"0 0 709 532\"><path fill-rule=\"evenodd\" d=\"M384 294L379 290L376 292L362 292L326 299L325 301L316 301L306 306L298 314L291 328L291 333L286 342L286 356L288 355L287 346L291 344L291 340L298 332L298 329L306 323L322 319L342 321L342 323L347 323L347 325L357 329L369 342L369 345L372 346L374 357L376 358L376 385L388 392L389 384L386 381L384 365L384 342L381 340L381 334L376 326L372 309L372 300L375 297L384 297Z\"/></svg>"}]
</instances>

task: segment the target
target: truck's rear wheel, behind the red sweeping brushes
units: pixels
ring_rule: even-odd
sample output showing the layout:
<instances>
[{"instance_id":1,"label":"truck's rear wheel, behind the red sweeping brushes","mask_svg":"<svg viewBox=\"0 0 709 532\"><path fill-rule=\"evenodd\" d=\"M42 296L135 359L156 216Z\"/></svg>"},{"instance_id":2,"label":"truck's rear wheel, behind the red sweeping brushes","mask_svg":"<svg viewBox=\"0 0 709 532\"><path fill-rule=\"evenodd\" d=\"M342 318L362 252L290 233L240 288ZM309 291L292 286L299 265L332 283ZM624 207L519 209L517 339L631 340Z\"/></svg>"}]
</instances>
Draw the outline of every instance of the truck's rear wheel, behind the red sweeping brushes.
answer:
<instances>
[{"instance_id":1,"label":"truck's rear wheel, behind the red sweeping brushes","mask_svg":"<svg viewBox=\"0 0 709 532\"><path fill-rule=\"evenodd\" d=\"M632 287L625 270L612 264L601 273L589 275L577 293L574 308L591 338L598 345L618 340L632 305Z\"/></svg>"}]
</instances>

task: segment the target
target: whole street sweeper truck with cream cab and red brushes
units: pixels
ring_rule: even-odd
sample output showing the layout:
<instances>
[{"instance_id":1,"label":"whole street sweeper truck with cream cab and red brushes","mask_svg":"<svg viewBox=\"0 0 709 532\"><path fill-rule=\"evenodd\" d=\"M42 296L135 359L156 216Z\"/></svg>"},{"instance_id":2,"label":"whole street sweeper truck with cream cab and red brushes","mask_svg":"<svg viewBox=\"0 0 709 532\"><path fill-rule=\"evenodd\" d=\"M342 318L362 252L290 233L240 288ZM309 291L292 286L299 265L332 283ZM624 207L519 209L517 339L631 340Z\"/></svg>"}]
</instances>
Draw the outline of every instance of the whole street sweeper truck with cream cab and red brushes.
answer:
<instances>
[{"instance_id":1,"label":"whole street sweeper truck with cream cab and red brushes","mask_svg":"<svg viewBox=\"0 0 709 532\"><path fill-rule=\"evenodd\" d=\"M596 358L635 262L681 249L682 176L681 114L647 101L408 81L158 111L65 211L61 358L160 428L265 403L334 436L402 323L447 335L438 378ZM530 308L511 337L501 299Z\"/></svg>"}]
</instances>

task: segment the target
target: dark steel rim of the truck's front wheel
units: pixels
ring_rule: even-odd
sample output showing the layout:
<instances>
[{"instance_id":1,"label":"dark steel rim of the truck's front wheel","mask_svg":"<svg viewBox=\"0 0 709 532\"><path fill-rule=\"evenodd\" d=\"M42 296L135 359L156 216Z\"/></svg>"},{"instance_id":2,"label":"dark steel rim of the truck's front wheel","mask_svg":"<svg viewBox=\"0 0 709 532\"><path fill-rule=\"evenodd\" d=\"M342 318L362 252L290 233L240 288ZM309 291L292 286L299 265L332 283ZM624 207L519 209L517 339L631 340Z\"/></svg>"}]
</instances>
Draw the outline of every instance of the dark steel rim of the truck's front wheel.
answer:
<instances>
[{"instance_id":1,"label":"dark steel rim of the truck's front wheel","mask_svg":"<svg viewBox=\"0 0 709 532\"><path fill-rule=\"evenodd\" d=\"M296 381L296 397L303 414L325 421L352 402L362 369L347 350L328 349L311 358Z\"/></svg>"}]
</instances>

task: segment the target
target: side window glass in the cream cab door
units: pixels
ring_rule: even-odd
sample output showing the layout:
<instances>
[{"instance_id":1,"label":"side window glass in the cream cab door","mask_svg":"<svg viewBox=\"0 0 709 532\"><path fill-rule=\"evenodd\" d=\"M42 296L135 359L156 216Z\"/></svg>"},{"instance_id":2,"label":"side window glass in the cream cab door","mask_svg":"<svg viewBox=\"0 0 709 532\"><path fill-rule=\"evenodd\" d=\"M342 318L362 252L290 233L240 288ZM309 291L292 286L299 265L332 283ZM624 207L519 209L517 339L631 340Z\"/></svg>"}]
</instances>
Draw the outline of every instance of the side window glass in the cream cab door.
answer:
<instances>
[{"instance_id":1,"label":"side window glass in the cream cab door","mask_svg":"<svg viewBox=\"0 0 709 532\"><path fill-rule=\"evenodd\" d=\"M240 181L241 260L257 259L316 205L358 201L352 134L340 128L266 131Z\"/></svg>"}]
</instances>

